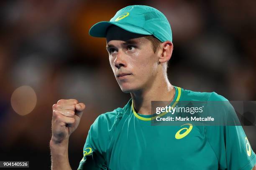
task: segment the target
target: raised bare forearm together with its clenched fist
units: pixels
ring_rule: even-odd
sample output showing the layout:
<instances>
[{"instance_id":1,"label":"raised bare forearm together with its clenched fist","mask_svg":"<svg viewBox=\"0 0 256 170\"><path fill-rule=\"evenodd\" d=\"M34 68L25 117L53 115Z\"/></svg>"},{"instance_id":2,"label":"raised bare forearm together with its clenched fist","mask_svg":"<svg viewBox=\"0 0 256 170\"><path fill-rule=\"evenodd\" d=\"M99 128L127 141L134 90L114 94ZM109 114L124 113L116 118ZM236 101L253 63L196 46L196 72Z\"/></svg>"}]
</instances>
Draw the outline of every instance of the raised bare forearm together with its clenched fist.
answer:
<instances>
[{"instance_id":1,"label":"raised bare forearm together with its clenched fist","mask_svg":"<svg viewBox=\"0 0 256 170\"><path fill-rule=\"evenodd\" d=\"M75 99L59 100L52 106L51 170L71 170L69 136L77 129L84 108L84 103L78 103Z\"/></svg>"}]
</instances>

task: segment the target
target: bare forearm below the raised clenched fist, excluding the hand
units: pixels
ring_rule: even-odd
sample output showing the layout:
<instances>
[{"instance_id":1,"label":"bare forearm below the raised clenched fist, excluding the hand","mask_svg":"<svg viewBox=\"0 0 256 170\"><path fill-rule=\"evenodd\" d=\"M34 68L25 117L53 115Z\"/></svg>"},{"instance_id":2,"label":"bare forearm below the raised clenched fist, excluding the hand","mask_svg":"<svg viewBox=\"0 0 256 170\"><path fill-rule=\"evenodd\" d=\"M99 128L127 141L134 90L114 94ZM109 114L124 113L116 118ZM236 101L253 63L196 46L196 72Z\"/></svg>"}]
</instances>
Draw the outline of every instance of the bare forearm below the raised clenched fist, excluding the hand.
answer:
<instances>
[{"instance_id":1,"label":"bare forearm below the raised clenched fist, excluding the hand","mask_svg":"<svg viewBox=\"0 0 256 170\"><path fill-rule=\"evenodd\" d=\"M51 170L72 170L69 165L68 140L63 143L50 141Z\"/></svg>"}]
</instances>

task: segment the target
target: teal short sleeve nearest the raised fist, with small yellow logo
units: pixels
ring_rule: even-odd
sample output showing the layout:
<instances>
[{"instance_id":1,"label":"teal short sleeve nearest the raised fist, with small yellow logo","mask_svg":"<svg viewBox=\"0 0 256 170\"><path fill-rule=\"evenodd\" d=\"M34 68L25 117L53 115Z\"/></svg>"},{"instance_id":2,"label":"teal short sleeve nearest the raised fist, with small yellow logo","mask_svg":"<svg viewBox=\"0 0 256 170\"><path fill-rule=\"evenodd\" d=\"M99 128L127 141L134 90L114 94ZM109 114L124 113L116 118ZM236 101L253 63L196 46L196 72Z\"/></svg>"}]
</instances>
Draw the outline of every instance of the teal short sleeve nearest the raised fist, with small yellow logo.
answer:
<instances>
[{"instance_id":1,"label":"teal short sleeve nearest the raised fist, with small yellow logo","mask_svg":"<svg viewBox=\"0 0 256 170\"><path fill-rule=\"evenodd\" d=\"M117 125L117 108L112 112L106 112L97 117L90 127L86 142L83 148L83 158L79 163L78 170L106 170L108 144ZM119 120L119 119L118 119Z\"/></svg>"}]
</instances>

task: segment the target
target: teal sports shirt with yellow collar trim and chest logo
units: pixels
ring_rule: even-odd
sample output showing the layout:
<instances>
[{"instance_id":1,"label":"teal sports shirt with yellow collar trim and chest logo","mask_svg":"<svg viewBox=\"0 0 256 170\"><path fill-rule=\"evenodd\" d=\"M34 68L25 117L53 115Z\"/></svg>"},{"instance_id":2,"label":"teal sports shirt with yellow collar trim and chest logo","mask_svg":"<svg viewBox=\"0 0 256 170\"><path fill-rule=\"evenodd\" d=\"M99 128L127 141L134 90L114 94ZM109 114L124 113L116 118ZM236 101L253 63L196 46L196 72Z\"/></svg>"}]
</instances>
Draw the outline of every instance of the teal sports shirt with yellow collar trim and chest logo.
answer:
<instances>
[{"instance_id":1,"label":"teal sports shirt with yellow collar trim and chest logo","mask_svg":"<svg viewBox=\"0 0 256 170\"><path fill-rule=\"evenodd\" d=\"M215 92L175 90L171 105L227 101ZM223 107L222 112L230 109ZM241 126L154 126L151 118L136 113L132 100L97 117L78 170L251 170L256 164Z\"/></svg>"}]
</instances>

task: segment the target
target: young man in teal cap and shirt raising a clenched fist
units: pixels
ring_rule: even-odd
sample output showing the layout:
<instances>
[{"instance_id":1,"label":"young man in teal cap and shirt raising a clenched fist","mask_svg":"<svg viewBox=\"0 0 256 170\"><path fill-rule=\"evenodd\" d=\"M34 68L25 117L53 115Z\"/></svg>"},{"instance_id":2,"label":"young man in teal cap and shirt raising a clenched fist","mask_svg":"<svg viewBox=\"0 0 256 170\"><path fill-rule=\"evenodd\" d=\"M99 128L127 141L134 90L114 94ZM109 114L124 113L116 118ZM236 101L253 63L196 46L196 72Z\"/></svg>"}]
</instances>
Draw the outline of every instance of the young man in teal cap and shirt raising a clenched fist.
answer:
<instances>
[{"instance_id":1,"label":"young man in teal cap and shirt raising a clenched fist","mask_svg":"<svg viewBox=\"0 0 256 170\"><path fill-rule=\"evenodd\" d=\"M252 170L256 156L241 126L152 126L151 101L227 101L215 92L192 92L171 85L167 62L173 50L166 17L153 7L133 5L100 22L90 35L106 37L115 78L131 100L97 117L91 125L78 170ZM68 140L83 103L53 105L50 142L53 170L70 170ZM232 110L232 109L231 109ZM223 115L230 105L219 109ZM160 114L159 117L162 115Z\"/></svg>"}]
</instances>

